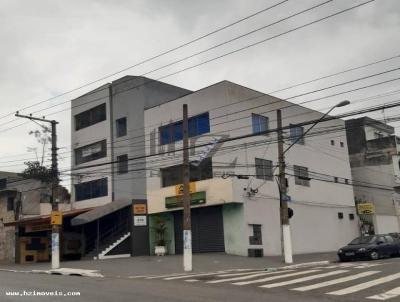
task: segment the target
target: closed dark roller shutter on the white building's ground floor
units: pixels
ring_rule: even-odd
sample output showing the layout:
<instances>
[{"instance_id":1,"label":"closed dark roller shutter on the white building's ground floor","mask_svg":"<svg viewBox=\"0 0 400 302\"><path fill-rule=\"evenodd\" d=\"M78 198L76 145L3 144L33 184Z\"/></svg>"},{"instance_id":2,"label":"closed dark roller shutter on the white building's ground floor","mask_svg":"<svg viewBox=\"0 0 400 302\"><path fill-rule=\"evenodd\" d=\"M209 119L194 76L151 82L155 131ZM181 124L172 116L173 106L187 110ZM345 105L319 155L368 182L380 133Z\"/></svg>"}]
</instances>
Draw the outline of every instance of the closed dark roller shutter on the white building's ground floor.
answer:
<instances>
[{"instance_id":1,"label":"closed dark roller shutter on the white building's ground floor","mask_svg":"<svg viewBox=\"0 0 400 302\"><path fill-rule=\"evenodd\" d=\"M175 252L183 253L182 211L174 212ZM222 207L192 209L193 253L225 252Z\"/></svg>"}]
</instances>

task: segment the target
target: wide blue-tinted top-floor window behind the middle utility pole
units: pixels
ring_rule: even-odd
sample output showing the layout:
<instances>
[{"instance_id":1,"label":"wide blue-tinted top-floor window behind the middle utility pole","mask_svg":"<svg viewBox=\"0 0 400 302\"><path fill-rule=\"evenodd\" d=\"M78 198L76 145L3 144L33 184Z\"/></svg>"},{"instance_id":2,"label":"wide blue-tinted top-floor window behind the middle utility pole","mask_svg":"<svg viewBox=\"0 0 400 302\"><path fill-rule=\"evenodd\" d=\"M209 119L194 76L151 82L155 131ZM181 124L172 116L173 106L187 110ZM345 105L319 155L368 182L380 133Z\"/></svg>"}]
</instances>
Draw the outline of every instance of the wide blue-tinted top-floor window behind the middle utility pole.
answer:
<instances>
[{"instance_id":1,"label":"wide blue-tinted top-floor window behind the middle utility pole","mask_svg":"<svg viewBox=\"0 0 400 302\"><path fill-rule=\"evenodd\" d=\"M203 113L188 120L189 137L210 132L209 114ZM171 144L183 139L183 122L179 121L159 128L160 144Z\"/></svg>"}]
</instances>

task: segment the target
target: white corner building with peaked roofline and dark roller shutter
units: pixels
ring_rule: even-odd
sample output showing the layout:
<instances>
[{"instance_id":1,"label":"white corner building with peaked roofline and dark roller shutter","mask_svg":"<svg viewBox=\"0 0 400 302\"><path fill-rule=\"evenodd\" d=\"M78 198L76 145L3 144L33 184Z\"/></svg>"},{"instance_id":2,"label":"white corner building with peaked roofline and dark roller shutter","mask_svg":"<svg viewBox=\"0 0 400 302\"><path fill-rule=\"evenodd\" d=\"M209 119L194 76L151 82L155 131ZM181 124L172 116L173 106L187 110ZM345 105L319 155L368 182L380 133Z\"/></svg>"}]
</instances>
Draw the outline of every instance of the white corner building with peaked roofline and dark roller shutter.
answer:
<instances>
[{"instance_id":1,"label":"white corner building with peaked roofline and dark roller shutter","mask_svg":"<svg viewBox=\"0 0 400 302\"><path fill-rule=\"evenodd\" d=\"M281 109L288 146L311 126L299 124L323 114L228 81L146 108L151 252L160 224L167 228L168 252L183 249L183 104L189 109L193 251L279 255L277 134L257 133L276 129ZM334 251L359 235L345 122L318 124L285 156L294 253Z\"/></svg>"}]
</instances>

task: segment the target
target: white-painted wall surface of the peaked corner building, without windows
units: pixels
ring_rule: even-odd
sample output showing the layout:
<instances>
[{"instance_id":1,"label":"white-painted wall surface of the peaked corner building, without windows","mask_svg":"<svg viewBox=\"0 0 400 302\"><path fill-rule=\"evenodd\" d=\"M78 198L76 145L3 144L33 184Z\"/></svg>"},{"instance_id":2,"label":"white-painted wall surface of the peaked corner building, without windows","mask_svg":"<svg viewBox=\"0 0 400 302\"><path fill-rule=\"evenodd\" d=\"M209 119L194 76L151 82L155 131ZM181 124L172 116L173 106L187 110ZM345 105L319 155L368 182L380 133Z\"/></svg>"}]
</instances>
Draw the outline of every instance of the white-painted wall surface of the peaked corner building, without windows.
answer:
<instances>
[{"instance_id":1,"label":"white-painted wall surface of the peaked corner building, without windows","mask_svg":"<svg viewBox=\"0 0 400 302\"><path fill-rule=\"evenodd\" d=\"M278 108L282 108L283 126L315 120L322 116L319 112L300 106L292 106L291 103L271 96L264 96L259 92L224 81L146 110L146 135L154 130L158 135L159 126L169 124L171 121L181 120L183 104L188 104L189 116L207 111L210 114L211 135L201 136L196 140L196 145L212 141L213 135L236 137L251 133L252 113L267 116L270 121L270 129L277 127L276 109ZM159 121L159 123L156 121ZM342 209L345 215L349 211L355 213L352 186L343 184L345 178L351 179L344 121L333 120L321 123L313 131L326 129L326 127L338 127L343 130L306 137L304 146L296 145L286 154L286 162L289 166L287 170L288 194L292 196L295 202L311 204L306 207L293 206L296 208L295 212L299 212L295 213L296 220L293 222L295 228L293 234L294 251L297 253L336 250L342 243L351 240L358 234L356 220L347 221L348 216L345 216L347 220L344 223L337 218L338 208ZM307 129L307 126L305 129ZM285 130L285 135L287 134L288 130ZM331 139L335 140L334 146L331 146ZM212 157L214 173L220 176L223 172L233 171L236 174L254 175L254 158L256 157L272 160L276 165L278 154L275 141L276 133L270 133L269 135L224 143ZM341 147L340 142L344 143L343 147ZM174 147L179 149L182 147L182 143L178 142ZM167 148L168 146L164 146L164 149ZM149 153L149 148L146 151ZM201 151L201 148L196 149L196 152L199 151ZM148 167L153 166L157 169L160 166L167 167L180 164L182 153L175 152L173 155L163 156L162 158L163 160L158 162L158 158L151 158L151 160L148 160ZM192 156L192 158L194 157ZM227 167L232 162L235 162L237 166ZM310 171L341 177L341 183L311 180L309 187L295 185L294 177L290 176L294 173L290 169L292 165L305 166ZM221 168L221 166L223 167ZM152 192L154 195L161 193L162 195L164 189L160 188L159 175L149 174L149 176L147 179L148 192ZM215 178L219 176L215 176ZM333 181L333 177L330 179ZM262 224L264 253L266 255L279 254L280 227L279 203L277 203L279 195L276 182L250 177L249 180L235 179L234 184L233 201L241 200L245 204L244 220L237 221L237 223L242 224L245 230L248 229L249 224ZM248 198L244 191L245 188L259 189L257 194ZM225 192L221 192L221 194L225 194ZM151 202L151 199L149 201ZM309 226L310 217L319 217L314 221L313 227ZM325 219L327 222L325 222ZM319 242L319 245L310 246L310 243L304 240L304 236L313 238L313 241ZM333 240L326 238L333 238ZM249 247L248 235L244 236L242 240Z\"/></svg>"}]
</instances>

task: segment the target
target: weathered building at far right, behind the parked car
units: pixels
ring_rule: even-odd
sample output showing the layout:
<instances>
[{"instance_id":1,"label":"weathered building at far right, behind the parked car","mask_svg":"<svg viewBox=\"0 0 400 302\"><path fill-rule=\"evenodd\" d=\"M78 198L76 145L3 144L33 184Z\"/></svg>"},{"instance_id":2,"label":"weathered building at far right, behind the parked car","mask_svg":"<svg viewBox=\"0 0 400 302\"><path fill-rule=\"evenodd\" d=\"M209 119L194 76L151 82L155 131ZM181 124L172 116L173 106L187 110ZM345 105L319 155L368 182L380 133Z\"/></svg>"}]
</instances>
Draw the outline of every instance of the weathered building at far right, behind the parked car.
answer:
<instances>
[{"instance_id":1,"label":"weathered building at far right, behind the parked car","mask_svg":"<svg viewBox=\"0 0 400 302\"><path fill-rule=\"evenodd\" d=\"M399 138L368 117L346 121L354 197L364 233L400 232Z\"/></svg>"}]
</instances>

